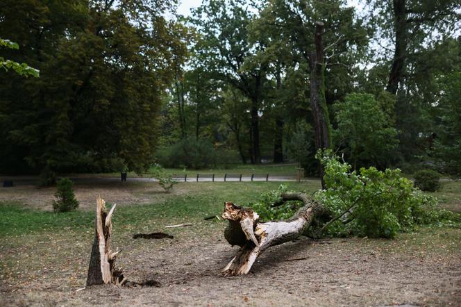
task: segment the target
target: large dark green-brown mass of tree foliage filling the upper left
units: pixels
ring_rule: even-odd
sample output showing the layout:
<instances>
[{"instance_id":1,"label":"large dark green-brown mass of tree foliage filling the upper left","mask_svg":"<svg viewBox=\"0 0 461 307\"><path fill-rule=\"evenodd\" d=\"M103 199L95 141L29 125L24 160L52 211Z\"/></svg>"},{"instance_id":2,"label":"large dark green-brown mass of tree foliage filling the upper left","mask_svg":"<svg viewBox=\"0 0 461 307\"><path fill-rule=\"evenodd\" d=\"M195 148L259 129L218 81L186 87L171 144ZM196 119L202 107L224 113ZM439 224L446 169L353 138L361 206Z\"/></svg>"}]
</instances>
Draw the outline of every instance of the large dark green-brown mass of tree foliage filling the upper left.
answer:
<instances>
[{"instance_id":1,"label":"large dark green-brown mass of tree foliage filling the upper left","mask_svg":"<svg viewBox=\"0 0 461 307\"><path fill-rule=\"evenodd\" d=\"M1 1L0 37L22 44L6 56L41 73L0 74L1 171L151 165L162 96L186 53L185 26L165 19L173 8L169 0Z\"/></svg>"}]
</instances>

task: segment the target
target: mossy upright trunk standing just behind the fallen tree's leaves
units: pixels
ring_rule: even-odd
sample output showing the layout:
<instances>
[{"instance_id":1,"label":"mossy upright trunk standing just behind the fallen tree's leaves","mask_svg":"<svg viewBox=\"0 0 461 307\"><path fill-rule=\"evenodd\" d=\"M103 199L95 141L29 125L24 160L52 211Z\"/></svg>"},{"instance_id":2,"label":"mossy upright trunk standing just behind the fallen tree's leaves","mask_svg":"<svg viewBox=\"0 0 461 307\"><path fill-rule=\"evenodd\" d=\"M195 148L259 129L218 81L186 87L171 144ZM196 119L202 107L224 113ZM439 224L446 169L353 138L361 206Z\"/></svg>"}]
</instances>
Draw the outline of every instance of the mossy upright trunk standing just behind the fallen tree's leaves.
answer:
<instances>
[{"instance_id":1,"label":"mossy upright trunk standing just behind the fallen tree's leaves","mask_svg":"<svg viewBox=\"0 0 461 307\"><path fill-rule=\"evenodd\" d=\"M330 147L330 120L325 99L324 54L321 36L324 23L315 26L315 52L310 54L310 106L315 127L315 149ZM324 167L319 166L321 186L325 188Z\"/></svg>"}]
</instances>

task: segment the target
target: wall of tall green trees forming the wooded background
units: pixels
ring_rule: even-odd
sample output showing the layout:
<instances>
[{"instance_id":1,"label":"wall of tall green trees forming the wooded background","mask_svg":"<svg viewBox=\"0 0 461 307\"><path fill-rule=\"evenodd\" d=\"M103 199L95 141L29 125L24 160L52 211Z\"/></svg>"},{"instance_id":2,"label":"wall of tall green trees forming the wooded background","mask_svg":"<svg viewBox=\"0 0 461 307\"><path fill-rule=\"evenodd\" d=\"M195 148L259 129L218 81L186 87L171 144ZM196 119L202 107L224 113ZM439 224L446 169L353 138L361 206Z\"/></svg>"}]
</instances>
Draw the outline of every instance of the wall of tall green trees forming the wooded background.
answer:
<instances>
[{"instance_id":1,"label":"wall of tall green trees forming the wooded background","mask_svg":"<svg viewBox=\"0 0 461 307\"><path fill-rule=\"evenodd\" d=\"M3 1L3 172L299 161L461 173L460 3ZM26 16L26 17L24 17Z\"/></svg>"}]
</instances>

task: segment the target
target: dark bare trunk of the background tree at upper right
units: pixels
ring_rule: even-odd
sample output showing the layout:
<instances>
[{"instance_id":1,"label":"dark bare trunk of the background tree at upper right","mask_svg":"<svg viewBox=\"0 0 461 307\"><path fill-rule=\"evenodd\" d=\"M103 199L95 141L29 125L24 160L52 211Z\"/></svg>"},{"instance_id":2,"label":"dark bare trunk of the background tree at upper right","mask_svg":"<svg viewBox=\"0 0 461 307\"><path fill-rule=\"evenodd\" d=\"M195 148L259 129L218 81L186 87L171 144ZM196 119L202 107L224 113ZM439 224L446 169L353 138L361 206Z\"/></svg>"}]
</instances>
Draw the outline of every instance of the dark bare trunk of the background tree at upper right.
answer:
<instances>
[{"instance_id":1,"label":"dark bare trunk of the background tree at upper right","mask_svg":"<svg viewBox=\"0 0 461 307\"><path fill-rule=\"evenodd\" d=\"M399 83L403 81L405 72L405 58L407 55L407 15L405 12L406 0L394 0L394 31L395 31L395 51L392 60L392 68L387 81L387 92L396 94Z\"/></svg>"}]
</instances>

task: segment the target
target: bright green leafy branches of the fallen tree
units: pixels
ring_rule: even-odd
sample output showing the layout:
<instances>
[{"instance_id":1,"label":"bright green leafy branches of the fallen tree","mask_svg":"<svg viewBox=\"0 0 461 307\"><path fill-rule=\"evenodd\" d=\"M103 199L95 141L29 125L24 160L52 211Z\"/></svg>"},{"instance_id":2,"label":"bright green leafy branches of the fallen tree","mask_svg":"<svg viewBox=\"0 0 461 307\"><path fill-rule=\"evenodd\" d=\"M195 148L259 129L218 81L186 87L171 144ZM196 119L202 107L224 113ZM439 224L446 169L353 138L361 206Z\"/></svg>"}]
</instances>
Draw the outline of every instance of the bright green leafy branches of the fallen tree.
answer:
<instances>
[{"instance_id":1,"label":"bright green leafy branches of the fallen tree","mask_svg":"<svg viewBox=\"0 0 461 307\"><path fill-rule=\"evenodd\" d=\"M324 235L394 238L421 224L450 224L455 219L453 213L439 208L435 197L413 188L412 181L402 177L399 169L362 167L357 172L330 153L319 158L325 167L327 188L315 193L315 200L326 208L326 220L331 221L320 225ZM291 217L302 204L287 201L280 206L283 192L287 187L281 185L250 206L262 220Z\"/></svg>"}]
</instances>

